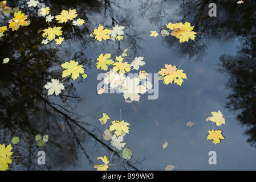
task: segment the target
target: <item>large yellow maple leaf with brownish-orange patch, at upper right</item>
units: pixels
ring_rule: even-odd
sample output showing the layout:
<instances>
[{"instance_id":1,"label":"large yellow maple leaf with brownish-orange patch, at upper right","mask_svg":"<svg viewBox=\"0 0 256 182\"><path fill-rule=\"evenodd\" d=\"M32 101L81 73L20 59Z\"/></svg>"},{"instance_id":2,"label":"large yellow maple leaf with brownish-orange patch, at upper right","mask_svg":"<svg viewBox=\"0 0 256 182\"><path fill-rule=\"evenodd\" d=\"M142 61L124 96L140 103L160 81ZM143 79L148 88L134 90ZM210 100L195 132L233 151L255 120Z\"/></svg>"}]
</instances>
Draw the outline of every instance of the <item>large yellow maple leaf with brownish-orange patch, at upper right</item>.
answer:
<instances>
[{"instance_id":1,"label":"large yellow maple leaf with brownish-orange patch, at upper right","mask_svg":"<svg viewBox=\"0 0 256 182\"><path fill-rule=\"evenodd\" d=\"M189 22L183 23L168 23L166 24L166 27L170 30L173 30L170 35L176 36L177 39L180 39L181 42L188 42L189 38L194 40L196 38L195 34L196 32L192 31L193 27L190 26Z\"/></svg>"}]
</instances>

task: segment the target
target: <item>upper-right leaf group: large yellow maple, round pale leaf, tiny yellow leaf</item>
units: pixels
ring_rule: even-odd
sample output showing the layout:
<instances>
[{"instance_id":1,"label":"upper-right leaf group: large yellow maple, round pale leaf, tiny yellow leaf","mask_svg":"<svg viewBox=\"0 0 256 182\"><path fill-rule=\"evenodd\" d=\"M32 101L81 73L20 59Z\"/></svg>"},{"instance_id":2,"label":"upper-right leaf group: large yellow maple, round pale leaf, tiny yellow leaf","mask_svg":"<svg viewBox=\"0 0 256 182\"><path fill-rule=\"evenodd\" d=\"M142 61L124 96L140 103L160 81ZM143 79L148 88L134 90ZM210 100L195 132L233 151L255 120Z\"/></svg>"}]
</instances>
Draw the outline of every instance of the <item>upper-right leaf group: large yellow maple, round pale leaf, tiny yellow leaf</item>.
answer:
<instances>
[{"instance_id":1,"label":"upper-right leaf group: large yellow maple, round pale leaf, tiny yellow leaf","mask_svg":"<svg viewBox=\"0 0 256 182\"><path fill-rule=\"evenodd\" d=\"M168 30L163 29L161 31L161 35L162 36L168 36L168 35L172 35L175 36L177 39L180 40L180 43L182 42L188 42L189 38L194 40L194 38L196 38L195 34L197 34L197 32L192 31L194 27L190 26L189 22L185 22L185 24L183 23L168 23L166 24L166 27L169 28L169 32ZM158 36L159 33L157 31L151 31L151 35L150 36Z\"/></svg>"}]
</instances>

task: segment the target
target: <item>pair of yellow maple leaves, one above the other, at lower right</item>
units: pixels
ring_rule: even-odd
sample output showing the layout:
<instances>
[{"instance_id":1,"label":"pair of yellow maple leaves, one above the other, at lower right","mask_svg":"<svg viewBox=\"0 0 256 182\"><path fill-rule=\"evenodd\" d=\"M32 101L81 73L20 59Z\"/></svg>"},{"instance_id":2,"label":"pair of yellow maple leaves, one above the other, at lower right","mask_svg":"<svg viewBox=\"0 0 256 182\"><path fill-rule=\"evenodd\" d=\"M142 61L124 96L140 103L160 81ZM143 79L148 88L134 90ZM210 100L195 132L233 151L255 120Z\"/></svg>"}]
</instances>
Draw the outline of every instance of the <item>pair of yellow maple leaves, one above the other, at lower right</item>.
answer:
<instances>
[{"instance_id":1,"label":"pair of yellow maple leaves, one above the other, at lower right","mask_svg":"<svg viewBox=\"0 0 256 182\"><path fill-rule=\"evenodd\" d=\"M221 113L220 110L218 110L218 112L214 111L211 112L212 113L212 117L208 117L206 118L206 121L212 121L215 122L216 126L221 126L222 124L225 125L225 118L223 117L223 114ZM222 131L221 130L214 130L212 129L208 131L209 135L207 136L208 140L213 140L213 143L217 144L221 142L221 139L225 139L224 136L221 134Z\"/></svg>"}]
</instances>

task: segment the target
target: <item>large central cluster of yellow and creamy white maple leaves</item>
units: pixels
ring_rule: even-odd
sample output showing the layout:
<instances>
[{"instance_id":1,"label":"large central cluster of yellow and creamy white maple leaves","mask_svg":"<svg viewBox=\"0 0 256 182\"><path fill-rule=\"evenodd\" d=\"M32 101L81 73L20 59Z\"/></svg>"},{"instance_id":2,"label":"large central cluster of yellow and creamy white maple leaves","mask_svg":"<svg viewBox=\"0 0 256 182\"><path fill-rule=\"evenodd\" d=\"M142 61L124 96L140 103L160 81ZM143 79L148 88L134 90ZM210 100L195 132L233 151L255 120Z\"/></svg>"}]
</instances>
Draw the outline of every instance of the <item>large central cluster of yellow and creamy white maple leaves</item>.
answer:
<instances>
[{"instance_id":1,"label":"large central cluster of yellow and creamy white maple leaves","mask_svg":"<svg viewBox=\"0 0 256 182\"><path fill-rule=\"evenodd\" d=\"M144 82L145 78L147 78L147 73L140 71L137 76L133 78L126 76L125 73L131 70L139 71L140 66L145 65L145 61L143 61L144 57L135 57L133 60L128 57L126 51L127 50L125 50L121 56L116 56L115 62L110 59L110 53L106 53L105 55L101 53L100 56L97 57L96 67L97 69L107 71L108 65L112 65L112 69L105 73L107 77L104 78L104 83L109 84L111 89L119 89L119 91L123 93L125 100L129 98L130 101L139 101L139 94L147 92L147 86L149 84L146 85ZM129 64L125 59L132 60L132 62ZM142 82L144 82L143 85Z\"/></svg>"}]
</instances>

